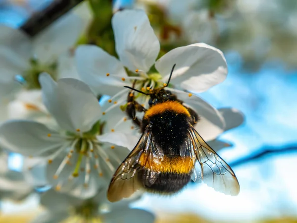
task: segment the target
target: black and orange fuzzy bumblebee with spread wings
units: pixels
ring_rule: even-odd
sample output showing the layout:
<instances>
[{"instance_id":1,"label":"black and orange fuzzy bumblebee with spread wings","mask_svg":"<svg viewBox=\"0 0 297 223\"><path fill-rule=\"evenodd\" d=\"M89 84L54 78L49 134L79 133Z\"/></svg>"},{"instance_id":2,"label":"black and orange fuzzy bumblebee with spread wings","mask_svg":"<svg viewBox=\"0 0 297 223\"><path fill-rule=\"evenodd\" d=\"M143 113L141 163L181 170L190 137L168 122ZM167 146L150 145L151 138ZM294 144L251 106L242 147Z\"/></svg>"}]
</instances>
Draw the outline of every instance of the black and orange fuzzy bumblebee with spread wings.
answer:
<instances>
[{"instance_id":1,"label":"black and orange fuzzy bumblebee with spread wings","mask_svg":"<svg viewBox=\"0 0 297 223\"><path fill-rule=\"evenodd\" d=\"M240 186L231 167L195 130L196 111L165 90L174 66L168 83L150 93L125 86L131 89L126 112L140 127L142 136L111 179L107 192L111 202L128 198L141 189L173 194L191 179L197 183L203 181L225 194L239 193ZM135 101L134 91L150 97L148 110ZM144 112L142 120L136 111Z\"/></svg>"}]
</instances>

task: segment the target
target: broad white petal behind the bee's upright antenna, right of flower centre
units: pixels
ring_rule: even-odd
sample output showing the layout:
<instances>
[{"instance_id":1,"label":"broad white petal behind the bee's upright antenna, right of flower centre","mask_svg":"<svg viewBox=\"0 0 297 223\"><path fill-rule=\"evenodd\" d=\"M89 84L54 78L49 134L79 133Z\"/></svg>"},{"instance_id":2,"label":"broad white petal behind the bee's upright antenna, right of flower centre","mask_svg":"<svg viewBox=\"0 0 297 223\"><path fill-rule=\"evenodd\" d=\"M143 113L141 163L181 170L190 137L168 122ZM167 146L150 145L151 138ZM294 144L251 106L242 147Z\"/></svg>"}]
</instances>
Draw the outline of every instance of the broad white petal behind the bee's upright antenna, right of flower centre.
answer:
<instances>
[{"instance_id":1,"label":"broad white petal behind the bee's upright antenna, right of flower centre","mask_svg":"<svg viewBox=\"0 0 297 223\"><path fill-rule=\"evenodd\" d=\"M228 73L223 53L204 43L175 48L158 59L155 67L167 80L175 63L170 83L196 93L221 83Z\"/></svg>"}]
</instances>

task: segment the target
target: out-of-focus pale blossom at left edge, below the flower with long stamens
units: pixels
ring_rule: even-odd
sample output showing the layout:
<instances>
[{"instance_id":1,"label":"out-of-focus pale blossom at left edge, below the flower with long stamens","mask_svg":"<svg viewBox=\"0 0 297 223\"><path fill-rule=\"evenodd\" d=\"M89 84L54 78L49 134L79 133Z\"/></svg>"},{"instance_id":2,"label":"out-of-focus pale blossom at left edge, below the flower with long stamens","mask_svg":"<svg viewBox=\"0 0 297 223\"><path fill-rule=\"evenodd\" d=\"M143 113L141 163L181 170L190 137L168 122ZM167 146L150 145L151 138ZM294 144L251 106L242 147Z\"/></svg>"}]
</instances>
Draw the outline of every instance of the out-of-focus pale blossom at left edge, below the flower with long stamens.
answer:
<instances>
[{"instance_id":1,"label":"out-of-focus pale blossom at left edge, below the flower with long stamens","mask_svg":"<svg viewBox=\"0 0 297 223\"><path fill-rule=\"evenodd\" d=\"M8 168L8 155L0 151L0 200L20 201L33 192L21 172Z\"/></svg>"}]
</instances>

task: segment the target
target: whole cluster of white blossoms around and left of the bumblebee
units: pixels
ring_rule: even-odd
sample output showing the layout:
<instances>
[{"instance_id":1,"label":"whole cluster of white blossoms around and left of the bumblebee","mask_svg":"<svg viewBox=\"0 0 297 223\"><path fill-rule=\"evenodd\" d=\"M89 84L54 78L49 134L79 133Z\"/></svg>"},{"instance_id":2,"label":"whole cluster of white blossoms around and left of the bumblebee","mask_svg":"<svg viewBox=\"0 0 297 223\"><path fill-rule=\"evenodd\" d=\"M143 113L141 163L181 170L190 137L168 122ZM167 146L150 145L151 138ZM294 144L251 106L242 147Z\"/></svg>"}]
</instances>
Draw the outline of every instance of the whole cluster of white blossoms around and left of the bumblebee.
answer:
<instances>
[{"instance_id":1,"label":"whole cluster of white blossoms around and left of the bumblebee","mask_svg":"<svg viewBox=\"0 0 297 223\"><path fill-rule=\"evenodd\" d=\"M126 116L130 90L124 86L144 92L162 87L176 64L167 88L198 112L196 130L218 151L229 144L216 138L240 125L243 115L232 108L217 110L198 93L224 81L226 59L204 43L159 56L159 40L142 10L113 15L117 57L96 45L77 46L81 24L70 14L33 39L0 27L5 33L0 36L0 180L5 182L0 198L23 199L34 188L49 186L41 195L47 211L33 222L141 218L151 223L151 213L128 206L141 195L115 204L106 200L114 171L140 134ZM148 97L139 94L137 102L147 107ZM13 177L8 153L24 157L22 173Z\"/></svg>"}]
</instances>

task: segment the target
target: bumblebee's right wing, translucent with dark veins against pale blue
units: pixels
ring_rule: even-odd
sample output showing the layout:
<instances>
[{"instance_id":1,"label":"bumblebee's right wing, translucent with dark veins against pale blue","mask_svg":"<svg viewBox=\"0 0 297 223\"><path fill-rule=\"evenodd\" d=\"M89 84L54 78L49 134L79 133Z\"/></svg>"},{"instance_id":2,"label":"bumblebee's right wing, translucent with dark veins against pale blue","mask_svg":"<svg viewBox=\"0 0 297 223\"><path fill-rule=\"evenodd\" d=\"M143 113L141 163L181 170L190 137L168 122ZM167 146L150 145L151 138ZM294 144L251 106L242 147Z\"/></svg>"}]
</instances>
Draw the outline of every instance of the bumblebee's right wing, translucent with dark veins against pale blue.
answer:
<instances>
[{"instance_id":1,"label":"bumblebee's right wing, translucent with dark veins against pale blue","mask_svg":"<svg viewBox=\"0 0 297 223\"><path fill-rule=\"evenodd\" d=\"M231 167L207 145L194 127L189 130L189 133L193 146L190 148L194 150L198 161L192 172L192 180L195 182L203 180L216 191L238 195L240 186Z\"/></svg>"}]
</instances>

